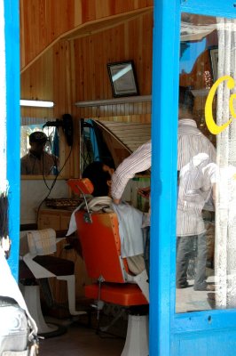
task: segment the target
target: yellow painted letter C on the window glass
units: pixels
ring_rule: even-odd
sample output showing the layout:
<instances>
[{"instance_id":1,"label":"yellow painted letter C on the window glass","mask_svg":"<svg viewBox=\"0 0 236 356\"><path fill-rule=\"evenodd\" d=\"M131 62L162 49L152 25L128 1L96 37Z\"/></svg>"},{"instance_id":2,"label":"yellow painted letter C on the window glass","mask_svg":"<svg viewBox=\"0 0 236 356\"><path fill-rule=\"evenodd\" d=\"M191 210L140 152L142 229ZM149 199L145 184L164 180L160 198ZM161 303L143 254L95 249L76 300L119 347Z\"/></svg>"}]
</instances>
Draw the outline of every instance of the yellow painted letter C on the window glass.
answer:
<instances>
[{"instance_id":1,"label":"yellow painted letter C on the window glass","mask_svg":"<svg viewBox=\"0 0 236 356\"><path fill-rule=\"evenodd\" d=\"M235 113L235 111L233 109L233 105L232 105L233 100L236 98L236 94L232 94L230 97L229 105L230 105L230 112L232 115L232 118L230 120L228 120L224 125L216 125L216 122L212 115L212 102L213 102L217 87L224 81L227 81L227 86L229 89L232 89L234 87L234 79L232 77L224 76L224 77L218 78L216 80L216 83L214 83L214 85L212 85L212 87L210 88L210 91L208 93L208 98L206 101L206 105L205 105L206 124L207 124L208 130L211 134L222 133L222 131L224 131L225 128L228 127L228 125L230 125L232 123L232 119L236 117L236 113Z\"/></svg>"}]
</instances>

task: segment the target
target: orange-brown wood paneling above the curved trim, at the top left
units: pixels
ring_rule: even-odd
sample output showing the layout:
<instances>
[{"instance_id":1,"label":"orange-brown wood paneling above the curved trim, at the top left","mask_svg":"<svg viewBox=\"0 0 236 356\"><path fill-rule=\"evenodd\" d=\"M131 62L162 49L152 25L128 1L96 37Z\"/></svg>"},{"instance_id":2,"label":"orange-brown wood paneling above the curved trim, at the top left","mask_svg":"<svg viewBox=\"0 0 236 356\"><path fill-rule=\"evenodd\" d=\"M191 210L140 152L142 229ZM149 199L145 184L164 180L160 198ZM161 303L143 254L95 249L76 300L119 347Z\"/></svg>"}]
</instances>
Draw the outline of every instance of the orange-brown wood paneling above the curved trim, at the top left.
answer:
<instances>
[{"instance_id":1,"label":"orange-brown wood paneling above the curved trim, at the top left","mask_svg":"<svg viewBox=\"0 0 236 356\"><path fill-rule=\"evenodd\" d=\"M60 36L88 21L153 6L153 0L20 0L21 69Z\"/></svg>"}]
</instances>

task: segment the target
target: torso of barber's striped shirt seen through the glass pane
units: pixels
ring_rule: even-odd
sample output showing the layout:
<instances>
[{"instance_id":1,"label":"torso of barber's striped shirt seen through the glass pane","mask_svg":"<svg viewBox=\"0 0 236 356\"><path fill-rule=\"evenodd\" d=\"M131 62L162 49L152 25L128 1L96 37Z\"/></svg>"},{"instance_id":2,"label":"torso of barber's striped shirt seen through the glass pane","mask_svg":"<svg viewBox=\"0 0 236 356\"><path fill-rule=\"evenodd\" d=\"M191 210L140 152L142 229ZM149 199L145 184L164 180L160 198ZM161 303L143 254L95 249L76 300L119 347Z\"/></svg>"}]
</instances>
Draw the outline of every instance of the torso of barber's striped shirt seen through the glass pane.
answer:
<instances>
[{"instance_id":1,"label":"torso of barber's striped shirt seen through the glass pane","mask_svg":"<svg viewBox=\"0 0 236 356\"><path fill-rule=\"evenodd\" d=\"M177 200L177 236L200 235L205 232L201 215L212 185L216 183L216 164L200 153L182 168Z\"/></svg>"}]
</instances>

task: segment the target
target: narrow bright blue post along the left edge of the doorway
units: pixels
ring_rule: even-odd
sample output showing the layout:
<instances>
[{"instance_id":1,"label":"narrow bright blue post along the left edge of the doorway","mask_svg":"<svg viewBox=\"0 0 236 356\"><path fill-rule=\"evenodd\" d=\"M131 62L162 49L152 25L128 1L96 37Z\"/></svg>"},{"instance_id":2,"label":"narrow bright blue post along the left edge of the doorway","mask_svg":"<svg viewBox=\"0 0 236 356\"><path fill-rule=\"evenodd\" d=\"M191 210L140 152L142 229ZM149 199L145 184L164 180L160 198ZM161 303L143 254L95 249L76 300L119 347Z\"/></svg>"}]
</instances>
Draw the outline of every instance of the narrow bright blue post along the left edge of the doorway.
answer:
<instances>
[{"instance_id":1,"label":"narrow bright blue post along the left edge of the doorway","mask_svg":"<svg viewBox=\"0 0 236 356\"><path fill-rule=\"evenodd\" d=\"M20 241L20 4L4 0L6 101L7 101L7 179L9 228L12 239L9 264L15 279L19 272Z\"/></svg>"}]
</instances>

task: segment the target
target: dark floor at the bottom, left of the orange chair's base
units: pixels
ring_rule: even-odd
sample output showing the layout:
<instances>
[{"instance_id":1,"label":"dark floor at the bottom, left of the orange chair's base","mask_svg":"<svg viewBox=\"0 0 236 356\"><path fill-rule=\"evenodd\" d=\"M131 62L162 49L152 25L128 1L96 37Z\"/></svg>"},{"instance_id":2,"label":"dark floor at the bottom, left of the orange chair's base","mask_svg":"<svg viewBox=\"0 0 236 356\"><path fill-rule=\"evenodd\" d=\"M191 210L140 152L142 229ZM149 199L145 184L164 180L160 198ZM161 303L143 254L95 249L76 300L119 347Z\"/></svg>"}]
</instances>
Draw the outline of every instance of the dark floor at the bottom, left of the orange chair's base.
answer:
<instances>
[{"instance_id":1,"label":"dark floor at the bottom, left of the orange chair's base","mask_svg":"<svg viewBox=\"0 0 236 356\"><path fill-rule=\"evenodd\" d=\"M78 322L67 326L62 336L40 341L39 355L42 356L120 356L125 340L108 334L96 334Z\"/></svg>"}]
</instances>

